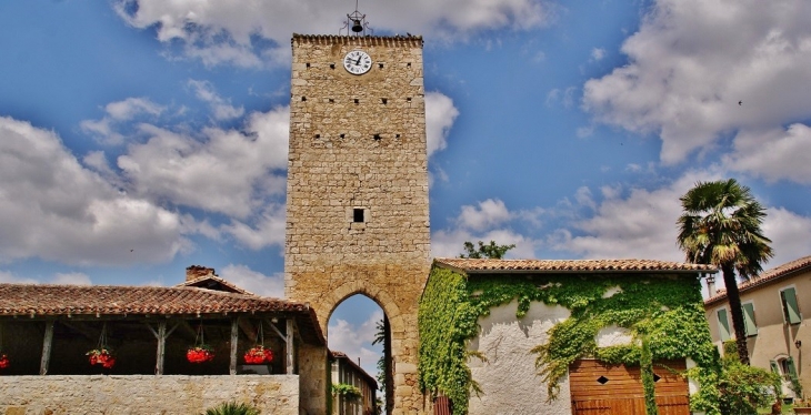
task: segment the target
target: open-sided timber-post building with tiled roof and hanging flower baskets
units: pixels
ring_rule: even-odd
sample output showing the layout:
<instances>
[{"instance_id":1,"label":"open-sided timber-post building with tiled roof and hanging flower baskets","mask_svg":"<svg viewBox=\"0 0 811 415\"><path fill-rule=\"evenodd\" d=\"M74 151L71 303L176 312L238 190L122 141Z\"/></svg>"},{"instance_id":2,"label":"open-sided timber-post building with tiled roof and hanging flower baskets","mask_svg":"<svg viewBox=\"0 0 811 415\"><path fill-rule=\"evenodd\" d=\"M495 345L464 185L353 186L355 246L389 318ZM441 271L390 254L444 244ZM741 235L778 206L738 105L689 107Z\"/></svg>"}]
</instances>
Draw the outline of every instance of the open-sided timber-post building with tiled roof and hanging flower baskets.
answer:
<instances>
[{"instance_id":1,"label":"open-sided timber-post building with tiled roof and hanging flower baskets","mask_svg":"<svg viewBox=\"0 0 811 415\"><path fill-rule=\"evenodd\" d=\"M307 304L253 295L201 266L173 287L0 284L0 304L1 414L186 415L236 401L298 415L311 406L300 351L327 350ZM203 344L211 358L191 362ZM244 360L257 345L270 362ZM100 348L114 364L89 360Z\"/></svg>"}]
</instances>

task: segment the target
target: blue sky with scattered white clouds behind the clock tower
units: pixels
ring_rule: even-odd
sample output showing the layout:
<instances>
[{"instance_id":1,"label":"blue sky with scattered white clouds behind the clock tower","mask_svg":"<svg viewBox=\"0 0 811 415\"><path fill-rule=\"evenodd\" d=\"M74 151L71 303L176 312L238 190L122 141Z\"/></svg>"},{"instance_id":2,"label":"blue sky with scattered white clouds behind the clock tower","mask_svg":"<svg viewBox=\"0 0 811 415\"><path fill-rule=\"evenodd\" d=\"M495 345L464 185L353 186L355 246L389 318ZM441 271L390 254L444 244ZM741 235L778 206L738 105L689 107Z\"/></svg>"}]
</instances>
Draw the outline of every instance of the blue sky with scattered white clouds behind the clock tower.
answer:
<instances>
[{"instance_id":1,"label":"blue sky with scattered white clouds behind the clock tower","mask_svg":"<svg viewBox=\"0 0 811 415\"><path fill-rule=\"evenodd\" d=\"M811 3L360 1L424 38L434 256L681 261L679 196L735 178L767 269L811 254ZM0 282L283 295L290 38L351 1L0 2ZM739 101L742 101L739 104ZM379 310L330 343L372 368Z\"/></svg>"}]
</instances>

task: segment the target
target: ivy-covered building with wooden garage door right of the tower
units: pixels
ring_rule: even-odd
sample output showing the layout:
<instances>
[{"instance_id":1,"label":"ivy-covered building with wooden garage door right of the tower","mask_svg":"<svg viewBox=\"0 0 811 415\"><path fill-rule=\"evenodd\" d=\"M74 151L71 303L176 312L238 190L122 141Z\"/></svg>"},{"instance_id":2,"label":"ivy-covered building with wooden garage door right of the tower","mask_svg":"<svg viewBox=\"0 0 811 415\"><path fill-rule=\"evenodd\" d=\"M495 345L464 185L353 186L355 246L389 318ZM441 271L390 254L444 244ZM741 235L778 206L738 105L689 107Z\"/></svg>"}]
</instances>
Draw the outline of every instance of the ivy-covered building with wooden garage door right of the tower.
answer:
<instances>
[{"instance_id":1,"label":"ivy-covered building with wooden garage door right of the tower","mask_svg":"<svg viewBox=\"0 0 811 415\"><path fill-rule=\"evenodd\" d=\"M435 259L420 306L421 384L453 413L644 414L647 348L659 413L690 414L694 394L718 399L699 382L714 367L699 281L714 272L650 260Z\"/></svg>"}]
</instances>

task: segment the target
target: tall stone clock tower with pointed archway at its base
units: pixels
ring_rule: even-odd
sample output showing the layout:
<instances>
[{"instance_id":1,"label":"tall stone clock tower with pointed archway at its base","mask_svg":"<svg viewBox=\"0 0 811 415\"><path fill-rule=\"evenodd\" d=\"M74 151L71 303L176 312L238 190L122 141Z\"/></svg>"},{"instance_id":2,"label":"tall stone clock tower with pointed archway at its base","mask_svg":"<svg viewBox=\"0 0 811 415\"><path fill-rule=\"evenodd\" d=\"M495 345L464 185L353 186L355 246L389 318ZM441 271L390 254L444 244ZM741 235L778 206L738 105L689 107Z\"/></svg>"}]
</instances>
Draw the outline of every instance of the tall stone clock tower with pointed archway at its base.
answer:
<instances>
[{"instance_id":1,"label":"tall stone clock tower with pointed archway at its base","mask_svg":"<svg viewBox=\"0 0 811 415\"><path fill-rule=\"evenodd\" d=\"M391 334L391 413L423 413L417 310L430 230L422 38L294 34L292 50L287 297L310 303L324 333L347 297L376 301ZM301 370L324 371L324 356L300 355L311 365Z\"/></svg>"}]
</instances>

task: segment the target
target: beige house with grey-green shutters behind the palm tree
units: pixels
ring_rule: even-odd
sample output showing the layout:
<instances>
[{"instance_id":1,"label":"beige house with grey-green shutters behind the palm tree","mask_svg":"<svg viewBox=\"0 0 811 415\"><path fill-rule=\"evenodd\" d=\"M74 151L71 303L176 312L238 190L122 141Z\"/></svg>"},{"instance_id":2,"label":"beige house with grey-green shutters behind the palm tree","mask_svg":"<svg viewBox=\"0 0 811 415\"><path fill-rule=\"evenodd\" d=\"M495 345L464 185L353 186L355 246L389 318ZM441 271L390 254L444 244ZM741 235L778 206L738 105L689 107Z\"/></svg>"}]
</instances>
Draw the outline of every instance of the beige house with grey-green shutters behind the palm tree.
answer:
<instances>
[{"instance_id":1,"label":"beige house with grey-green shutters behind the palm tree","mask_svg":"<svg viewBox=\"0 0 811 415\"><path fill-rule=\"evenodd\" d=\"M792 377L811 393L811 256L782 264L739 285L753 366L772 370L783 377L783 393L794 397ZM712 340L719 345L734 338L727 292L715 292L704 302Z\"/></svg>"}]
</instances>

